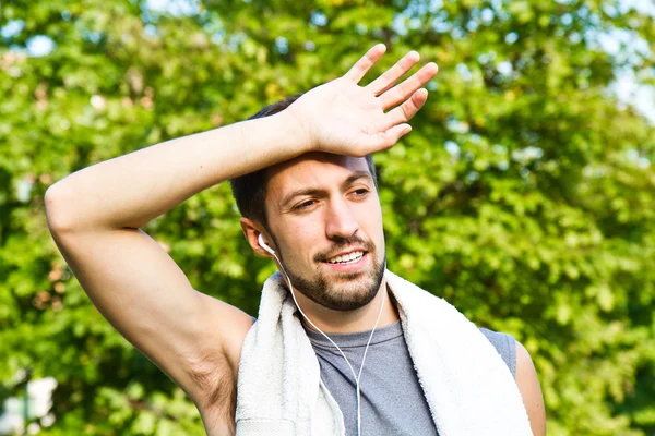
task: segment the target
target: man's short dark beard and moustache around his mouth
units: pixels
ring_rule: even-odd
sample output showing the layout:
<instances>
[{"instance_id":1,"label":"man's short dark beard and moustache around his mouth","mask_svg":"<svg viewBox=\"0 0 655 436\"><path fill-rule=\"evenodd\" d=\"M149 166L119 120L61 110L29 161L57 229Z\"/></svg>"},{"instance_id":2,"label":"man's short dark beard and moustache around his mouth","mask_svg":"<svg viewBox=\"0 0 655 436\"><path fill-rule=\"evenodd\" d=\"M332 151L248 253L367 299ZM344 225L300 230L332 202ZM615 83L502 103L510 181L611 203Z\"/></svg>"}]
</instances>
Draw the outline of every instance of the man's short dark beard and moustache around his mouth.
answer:
<instances>
[{"instance_id":1,"label":"man's short dark beard and moustache around his mouth","mask_svg":"<svg viewBox=\"0 0 655 436\"><path fill-rule=\"evenodd\" d=\"M274 239L274 238L273 238ZM359 244L366 250L366 255L372 257L373 267L365 271L343 272L337 279L329 279L318 271L314 277L307 277L294 269L290 263L285 262L284 255L278 251L279 262L294 288L314 303L338 312L355 311L370 303L382 284L386 265L386 254L380 262L376 262L376 246L370 241L365 241L357 235L340 239L338 242L324 253L318 253L314 262L325 262L330 253ZM275 245L279 247L277 241Z\"/></svg>"}]
</instances>

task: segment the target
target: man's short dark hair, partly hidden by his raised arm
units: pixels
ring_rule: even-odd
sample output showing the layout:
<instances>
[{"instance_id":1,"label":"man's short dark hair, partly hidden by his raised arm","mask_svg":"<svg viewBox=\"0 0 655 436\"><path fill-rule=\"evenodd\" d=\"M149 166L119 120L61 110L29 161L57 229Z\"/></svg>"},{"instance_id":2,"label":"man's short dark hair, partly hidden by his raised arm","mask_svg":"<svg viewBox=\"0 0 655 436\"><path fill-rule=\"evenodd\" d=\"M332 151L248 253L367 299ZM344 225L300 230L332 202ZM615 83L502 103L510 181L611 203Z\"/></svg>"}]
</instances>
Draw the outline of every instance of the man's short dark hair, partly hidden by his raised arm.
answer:
<instances>
[{"instance_id":1,"label":"man's short dark hair, partly hidden by his raised arm","mask_svg":"<svg viewBox=\"0 0 655 436\"><path fill-rule=\"evenodd\" d=\"M272 105L262 108L259 112L249 118L249 120L255 120L258 118L264 118L274 116L275 113L282 112L288 108L294 101L296 101L302 94L296 94L295 96L287 97L284 100L279 100ZM376 189L378 187L378 177L376 173L376 165L371 155L366 156L366 162L368 165L369 172L373 179ZM233 190L233 195L237 202L237 207L241 213L242 217L250 218L267 228L269 219L266 216L265 198L266 198L266 185L269 180L266 178L266 168L262 168L258 171L250 172L248 174L240 175L231 179L229 184Z\"/></svg>"}]
</instances>

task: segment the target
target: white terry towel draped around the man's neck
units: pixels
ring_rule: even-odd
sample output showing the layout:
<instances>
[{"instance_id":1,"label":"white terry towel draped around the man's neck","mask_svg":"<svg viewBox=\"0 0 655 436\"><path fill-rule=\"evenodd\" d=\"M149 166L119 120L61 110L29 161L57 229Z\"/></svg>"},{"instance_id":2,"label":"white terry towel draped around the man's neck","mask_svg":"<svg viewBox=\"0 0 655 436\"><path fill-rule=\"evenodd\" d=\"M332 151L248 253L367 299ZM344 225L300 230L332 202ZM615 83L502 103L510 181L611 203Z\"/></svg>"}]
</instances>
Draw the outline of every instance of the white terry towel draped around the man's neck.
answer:
<instances>
[{"instance_id":1,"label":"white terry towel draped around the man's neck","mask_svg":"<svg viewBox=\"0 0 655 436\"><path fill-rule=\"evenodd\" d=\"M385 279L440 436L532 435L510 370L477 327L444 300L390 271ZM237 436L345 435L298 315L273 275L241 349Z\"/></svg>"}]
</instances>

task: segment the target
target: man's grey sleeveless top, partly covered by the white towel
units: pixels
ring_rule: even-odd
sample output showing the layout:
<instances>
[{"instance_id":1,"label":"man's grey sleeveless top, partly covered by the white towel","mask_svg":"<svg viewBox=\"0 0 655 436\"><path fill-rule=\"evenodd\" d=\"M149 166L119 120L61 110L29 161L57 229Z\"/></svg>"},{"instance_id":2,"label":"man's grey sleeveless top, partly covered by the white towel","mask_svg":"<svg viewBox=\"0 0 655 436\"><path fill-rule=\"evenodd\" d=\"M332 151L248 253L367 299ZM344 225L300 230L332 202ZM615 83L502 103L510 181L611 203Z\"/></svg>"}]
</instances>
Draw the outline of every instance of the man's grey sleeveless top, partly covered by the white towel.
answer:
<instances>
[{"instance_id":1,"label":"man's grey sleeveless top, partly covered by the white towel","mask_svg":"<svg viewBox=\"0 0 655 436\"><path fill-rule=\"evenodd\" d=\"M353 373L341 353L325 337L307 326L305 330L317 353L321 366L321 379L344 415L346 435L356 436L357 397ZM514 339L509 335L485 328L480 328L480 331L496 347L512 375L515 376ZM369 336L370 330L330 335L348 358L356 374L359 374ZM359 390L362 436L437 436L439 434L418 384L400 320L376 330L366 355Z\"/></svg>"}]
</instances>

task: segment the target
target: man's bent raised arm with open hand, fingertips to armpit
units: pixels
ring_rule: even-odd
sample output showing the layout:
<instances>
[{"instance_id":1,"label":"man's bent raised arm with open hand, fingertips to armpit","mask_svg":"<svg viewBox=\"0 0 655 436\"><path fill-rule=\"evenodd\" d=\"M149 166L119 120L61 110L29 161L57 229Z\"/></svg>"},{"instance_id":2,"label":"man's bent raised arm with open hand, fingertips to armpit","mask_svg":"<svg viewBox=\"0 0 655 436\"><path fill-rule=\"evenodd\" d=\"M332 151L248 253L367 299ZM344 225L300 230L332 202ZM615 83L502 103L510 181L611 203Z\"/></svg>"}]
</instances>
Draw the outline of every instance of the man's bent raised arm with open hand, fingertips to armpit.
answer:
<instances>
[{"instance_id":1,"label":"man's bent raised arm with open hand, fingertips to armpit","mask_svg":"<svg viewBox=\"0 0 655 436\"><path fill-rule=\"evenodd\" d=\"M201 411L230 396L225 380L234 382L251 319L194 291L140 227L209 186L306 152L366 155L393 146L410 130L405 122L427 98L419 88L437 69L428 64L394 87L418 61L413 52L358 86L383 52L373 47L344 77L278 114L94 165L46 193L50 231L88 296Z\"/></svg>"}]
</instances>

